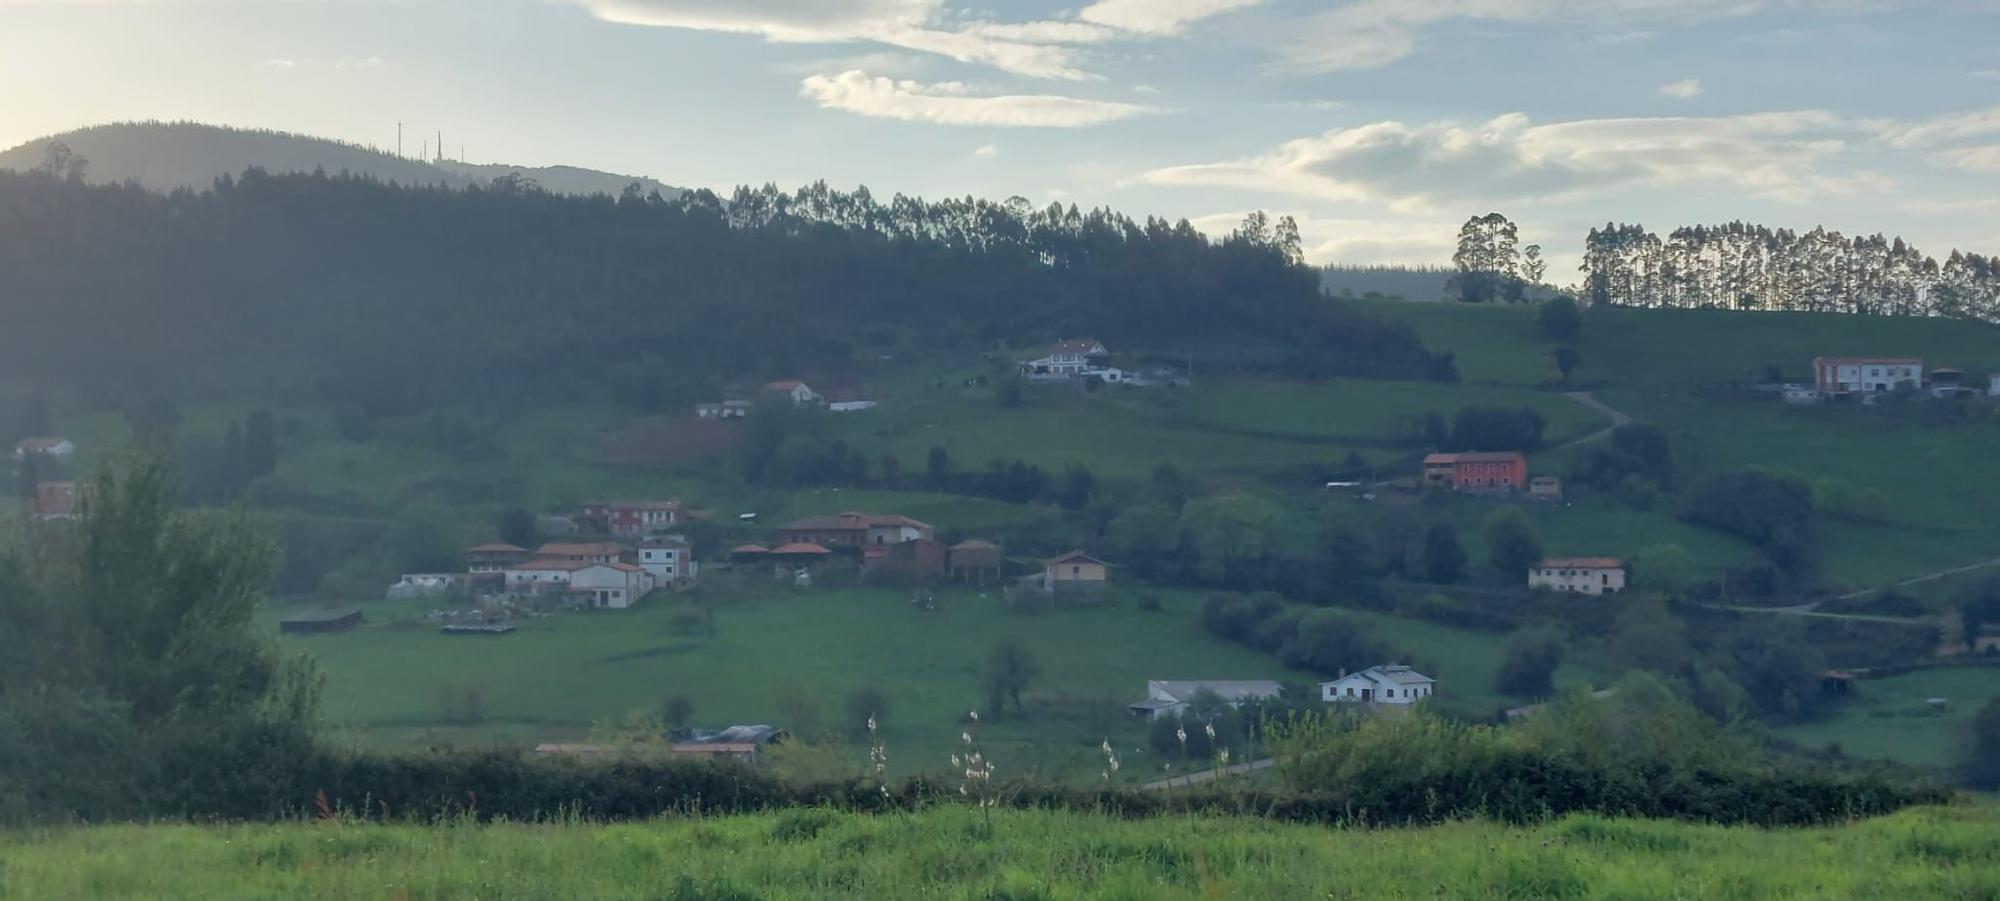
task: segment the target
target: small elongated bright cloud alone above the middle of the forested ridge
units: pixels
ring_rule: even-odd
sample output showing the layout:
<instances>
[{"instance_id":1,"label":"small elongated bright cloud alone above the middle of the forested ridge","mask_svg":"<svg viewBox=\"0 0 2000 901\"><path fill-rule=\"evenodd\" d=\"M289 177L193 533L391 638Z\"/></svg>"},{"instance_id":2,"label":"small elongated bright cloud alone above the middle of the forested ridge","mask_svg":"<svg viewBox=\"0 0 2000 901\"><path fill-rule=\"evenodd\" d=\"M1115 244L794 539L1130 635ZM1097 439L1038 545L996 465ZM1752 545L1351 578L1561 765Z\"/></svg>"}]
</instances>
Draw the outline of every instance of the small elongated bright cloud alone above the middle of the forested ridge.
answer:
<instances>
[{"instance_id":1,"label":"small elongated bright cloud alone above the middle of the forested ridge","mask_svg":"<svg viewBox=\"0 0 2000 901\"><path fill-rule=\"evenodd\" d=\"M800 94L828 110L860 116L1002 128L1084 128L1156 112L1152 106L1054 94L972 94L960 82L920 84L872 78L860 70L816 74Z\"/></svg>"}]
</instances>

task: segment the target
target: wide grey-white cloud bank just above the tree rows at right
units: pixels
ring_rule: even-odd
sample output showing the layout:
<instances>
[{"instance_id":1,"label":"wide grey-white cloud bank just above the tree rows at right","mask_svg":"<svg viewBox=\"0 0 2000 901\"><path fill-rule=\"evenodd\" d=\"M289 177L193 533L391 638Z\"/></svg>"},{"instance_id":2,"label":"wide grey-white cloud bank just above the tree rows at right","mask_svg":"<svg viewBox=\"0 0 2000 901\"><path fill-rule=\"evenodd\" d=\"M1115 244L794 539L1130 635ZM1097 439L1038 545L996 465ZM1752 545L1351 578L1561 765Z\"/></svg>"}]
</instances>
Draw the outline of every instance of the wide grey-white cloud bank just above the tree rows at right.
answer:
<instances>
[{"instance_id":1,"label":"wide grey-white cloud bank just above the tree rows at right","mask_svg":"<svg viewBox=\"0 0 2000 901\"><path fill-rule=\"evenodd\" d=\"M1574 200L1626 186L1724 184L1758 198L1806 200L1882 188L1872 174L1830 176L1858 126L1830 112L1722 118L1598 118L1534 124L1372 122L1290 140L1252 158L1158 168L1152 184L1222 186L1326 200L1430 208L1462 200Z\"/></svg>"}]
</instances>

